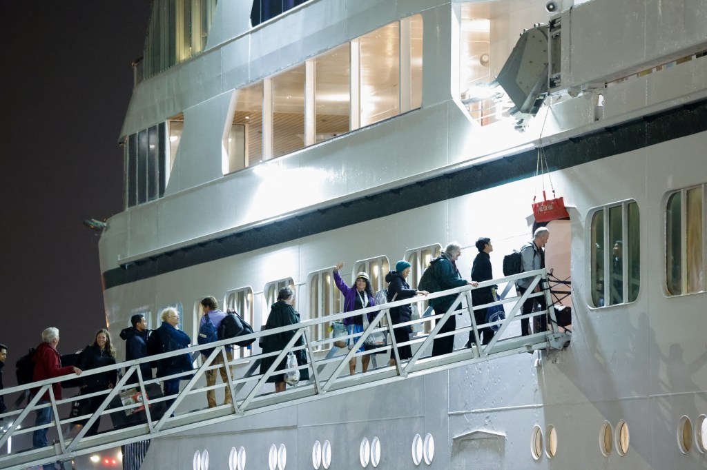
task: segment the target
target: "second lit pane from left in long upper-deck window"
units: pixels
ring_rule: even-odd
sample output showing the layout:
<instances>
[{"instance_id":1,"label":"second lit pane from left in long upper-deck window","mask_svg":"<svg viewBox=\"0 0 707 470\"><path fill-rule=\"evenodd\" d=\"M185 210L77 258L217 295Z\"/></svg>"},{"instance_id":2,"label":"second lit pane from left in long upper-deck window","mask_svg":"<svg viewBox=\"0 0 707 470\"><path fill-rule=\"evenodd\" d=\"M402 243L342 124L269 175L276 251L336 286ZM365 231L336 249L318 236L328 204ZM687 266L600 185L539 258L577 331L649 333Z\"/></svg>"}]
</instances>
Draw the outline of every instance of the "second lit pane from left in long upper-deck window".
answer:
<instances>
[{"instance_id":1,"label":"second lit pane from left in long upper-deck window","mask_svg":"<svg viewBox=\"0 0 707 470\"><path fill-rule=\"evenodd\" d=\"M273 157L305 145L305 65L272 79Z\"/></svg>"}]
</instances>

